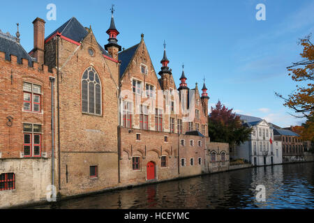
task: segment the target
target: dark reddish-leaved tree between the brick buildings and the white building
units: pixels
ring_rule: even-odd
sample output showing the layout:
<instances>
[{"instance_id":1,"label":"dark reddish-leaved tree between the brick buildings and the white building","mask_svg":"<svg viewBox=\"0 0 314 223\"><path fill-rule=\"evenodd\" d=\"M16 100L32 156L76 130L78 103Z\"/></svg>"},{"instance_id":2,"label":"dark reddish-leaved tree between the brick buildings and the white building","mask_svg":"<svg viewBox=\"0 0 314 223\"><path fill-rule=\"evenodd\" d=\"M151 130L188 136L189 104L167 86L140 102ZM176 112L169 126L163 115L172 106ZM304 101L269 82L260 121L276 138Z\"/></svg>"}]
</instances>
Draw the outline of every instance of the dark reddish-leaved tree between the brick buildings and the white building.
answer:
<instances>
[{"instance_id":1,"label":"dark reddish-leaved tree between the brick buildings and the white building","mask_svg":"<svg viewBox=\"0 0 314 223\"><path fill-rule=\"evenodd\" d=\"M216 107L211 107L209 115L209 137L211 141L226 142L230 147L240 145L247 141L252 132L252 128L242 125L240 117L217 102Z\"/></svg>"}]
</instances>

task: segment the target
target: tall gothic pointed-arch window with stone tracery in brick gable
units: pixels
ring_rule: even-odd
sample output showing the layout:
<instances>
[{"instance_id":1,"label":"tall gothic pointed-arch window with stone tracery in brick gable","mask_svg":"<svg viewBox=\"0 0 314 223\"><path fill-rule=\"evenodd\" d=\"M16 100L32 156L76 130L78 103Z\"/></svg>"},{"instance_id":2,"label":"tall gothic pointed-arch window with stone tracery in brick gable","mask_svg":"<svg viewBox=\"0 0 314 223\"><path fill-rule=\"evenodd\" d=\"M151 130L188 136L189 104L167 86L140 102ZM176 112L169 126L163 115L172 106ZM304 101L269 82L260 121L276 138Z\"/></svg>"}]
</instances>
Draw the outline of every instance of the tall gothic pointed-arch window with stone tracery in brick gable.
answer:
<instances>
[{"instance_id":1,"label":"tall gothic pointed-arch window with stone tracery in brick gable","mask_svg":"<svg viewBox=\"0 0 314 223\"><path fill-rule=\"evenodd\" d=\"M93 67L82 76L82 112L101 115L101 84Z\"/></svg>"}]
</instances>

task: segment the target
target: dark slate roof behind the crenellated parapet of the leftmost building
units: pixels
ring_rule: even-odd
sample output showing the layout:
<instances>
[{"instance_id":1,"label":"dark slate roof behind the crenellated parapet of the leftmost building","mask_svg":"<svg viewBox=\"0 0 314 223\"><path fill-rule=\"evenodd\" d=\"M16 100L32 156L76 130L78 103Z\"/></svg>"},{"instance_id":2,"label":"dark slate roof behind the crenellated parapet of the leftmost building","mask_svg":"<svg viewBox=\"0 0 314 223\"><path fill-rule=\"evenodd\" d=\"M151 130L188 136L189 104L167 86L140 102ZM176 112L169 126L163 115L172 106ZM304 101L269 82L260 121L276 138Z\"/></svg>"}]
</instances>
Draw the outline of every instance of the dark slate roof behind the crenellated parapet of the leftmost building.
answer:
<instances>
[{"instance_id":1,"label":"dark slate roof behind the crenellated parapet of the leftmost building","mask_svg":"<svg viewBox=\"0 0 314 223\"><path fill-rule=\"evenodd\" d=\"M32 62L36 59L27 54L25 49L14 36L10 36L10 33L2 33L0 30L0 51L6 53L6 60L10 61L10 55L17 56L17 63L22 63L22 58L29 61L29 66L32 66Z\"/></svg>"}]
</instances>

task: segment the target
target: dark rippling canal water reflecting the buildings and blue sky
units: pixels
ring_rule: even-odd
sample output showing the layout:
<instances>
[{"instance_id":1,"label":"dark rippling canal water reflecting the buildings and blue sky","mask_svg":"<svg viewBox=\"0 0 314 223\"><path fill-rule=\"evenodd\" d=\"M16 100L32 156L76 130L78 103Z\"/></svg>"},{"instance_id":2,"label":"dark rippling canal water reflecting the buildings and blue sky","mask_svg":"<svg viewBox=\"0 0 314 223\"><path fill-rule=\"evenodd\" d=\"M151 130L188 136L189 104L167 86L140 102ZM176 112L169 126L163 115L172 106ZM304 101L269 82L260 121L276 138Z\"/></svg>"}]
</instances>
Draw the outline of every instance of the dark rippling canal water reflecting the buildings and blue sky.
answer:
<instances>
[{"instance_id":1,"label":"dark rippling canal water reflecting the buildings and blue sky","mask_svg":"<svg viewBox=\"0 0 314 223\"><path fill-rule=\"evenodd\" d=\"M264 185L266 201L255 188ZM105 192L36 208L310 208L314 209L314 163L240 169Z\"/></svg>"}]
</instances>

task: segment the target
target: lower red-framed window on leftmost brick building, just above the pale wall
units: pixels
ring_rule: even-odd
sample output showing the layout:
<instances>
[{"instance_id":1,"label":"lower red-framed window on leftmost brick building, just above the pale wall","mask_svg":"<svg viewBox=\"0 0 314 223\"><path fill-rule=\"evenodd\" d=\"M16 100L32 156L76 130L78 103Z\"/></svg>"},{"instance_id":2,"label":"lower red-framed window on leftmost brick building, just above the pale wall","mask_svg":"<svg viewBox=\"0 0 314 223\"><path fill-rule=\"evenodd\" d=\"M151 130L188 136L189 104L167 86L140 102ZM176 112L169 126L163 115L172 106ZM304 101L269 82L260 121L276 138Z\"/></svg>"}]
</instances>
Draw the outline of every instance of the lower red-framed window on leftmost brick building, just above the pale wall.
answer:
<instances>
[{"instance_id":1,"label":"lower red-framed window on leftmost brick building, just above the pale wall","mask_svg":"<svg viewBox=\"0 0 314 223\"><path fill-rule=\"evenodd\" d=\"M23 123L24 157L40 157L42 141L42 125Z\"/></svg>"}]
</instances>

